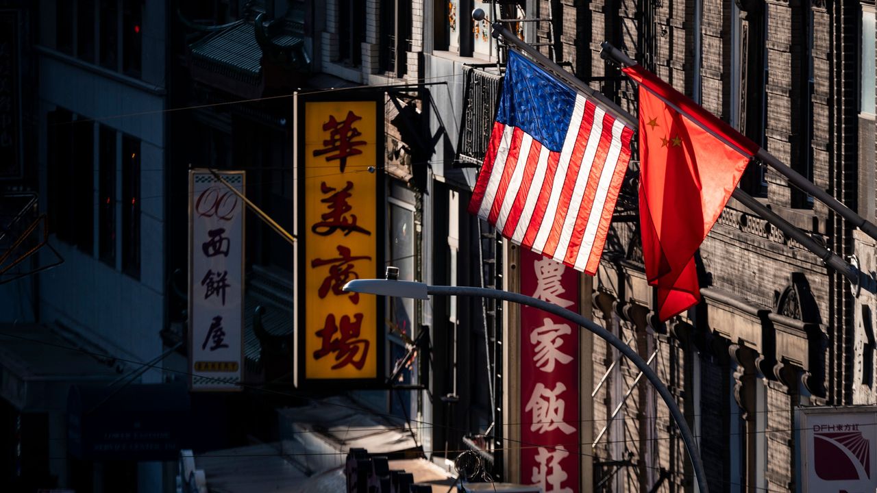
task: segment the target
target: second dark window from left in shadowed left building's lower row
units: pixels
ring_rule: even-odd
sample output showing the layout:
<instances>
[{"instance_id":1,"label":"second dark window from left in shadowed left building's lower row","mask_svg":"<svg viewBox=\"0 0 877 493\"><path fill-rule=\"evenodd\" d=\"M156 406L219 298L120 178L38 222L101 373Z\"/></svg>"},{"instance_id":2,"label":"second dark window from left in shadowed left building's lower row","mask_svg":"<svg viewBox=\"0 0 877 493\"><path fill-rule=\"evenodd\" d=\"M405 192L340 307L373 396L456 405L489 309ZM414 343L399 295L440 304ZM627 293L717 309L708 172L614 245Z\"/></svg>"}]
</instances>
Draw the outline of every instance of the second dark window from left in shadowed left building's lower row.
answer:
<instances>
[{"instance_id":1,"label":"second dark window from left in shadowed left building's lower row","mask_svg":"<svg viewBox=\"0 0 877 493\"><path fill-rule=\"evenodd\" d=\"M82 118L80 118L82 119ZM73 204L68 220L73 227L76 247L86 254L93 255L95 232L95 125L91 121L78 121L73 124L73 180L68 186L73 189Z\"/></svg>"}]
</instances>

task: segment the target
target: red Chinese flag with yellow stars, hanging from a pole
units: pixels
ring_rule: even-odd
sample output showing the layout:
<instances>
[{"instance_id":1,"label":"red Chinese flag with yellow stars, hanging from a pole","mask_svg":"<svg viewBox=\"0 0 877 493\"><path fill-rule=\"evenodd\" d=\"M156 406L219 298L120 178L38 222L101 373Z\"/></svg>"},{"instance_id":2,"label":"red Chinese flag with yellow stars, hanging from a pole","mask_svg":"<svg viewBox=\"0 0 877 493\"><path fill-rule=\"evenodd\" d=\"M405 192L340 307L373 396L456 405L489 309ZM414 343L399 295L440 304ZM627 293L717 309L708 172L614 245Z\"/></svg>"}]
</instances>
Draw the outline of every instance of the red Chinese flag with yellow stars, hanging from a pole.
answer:
<instances>
[{"instance_id":1,"label":"red Chinese flag with yellow stars, hanging from a pole","mask_svg":"<svg viewBox=\"0 0 877 493\"><path fill-rule=\"evenodd\" d=\"M759 146L640 66L624 72L639 83L639 222L664 321L700 302L695 253Z\"/></svg>"}]
</instances>

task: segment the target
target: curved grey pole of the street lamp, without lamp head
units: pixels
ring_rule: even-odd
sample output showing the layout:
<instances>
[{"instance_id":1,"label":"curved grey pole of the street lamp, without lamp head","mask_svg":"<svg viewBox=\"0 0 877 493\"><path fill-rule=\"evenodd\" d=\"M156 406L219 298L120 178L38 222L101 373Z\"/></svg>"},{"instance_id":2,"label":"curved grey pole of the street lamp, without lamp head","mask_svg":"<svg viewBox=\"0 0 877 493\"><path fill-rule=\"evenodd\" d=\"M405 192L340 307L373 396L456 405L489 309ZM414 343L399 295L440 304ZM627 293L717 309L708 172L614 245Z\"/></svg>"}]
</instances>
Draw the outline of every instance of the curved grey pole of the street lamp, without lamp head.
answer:
<instances>
[{"instance_id":1,"label":"curved grey pole of the street lamp, without lamp head","mask_svg":"<svg viewBox=\"0 0 877 493\"><path fill-rule=\"evenodd\" d=\"M664 403L667 404L670 414L673 416L676 425L679 427L682 441L685 443L686 452L688 452L688 458L691 460L691 464L695 468L697 488L701 493L709 493L706 472L703 469L701 454L697 450L697 442L695 441L695 437L691 433L691 430L688 428L688 423L685 421L685 417L682 415L679 405L676 404L673 394L670 393L670 390L667 389L664 382L660 381L658 374L655 373L652 367L650 367L642 357L639 356L639 354L631 349L630 346L627 346L621 339L618 339L615 334L607 331L600 325L595 324L593 321L588 320L588 318L582 317L574 311L569 311L566 308L561 308L556 304L550 304L534 297L511 293L509 291L503 291L502 289L474 288L469 286L426 286L426 293L430 295L446 295L452 297L487 297L511 303L525 304L542 311L547 311L558 317L566 318L570 322L588 329L588 331L593 332L597 337L610 343L612 347L615 347L621 352L621 354L627 356L627 358L639 368L639 371L645 375L645 378L647 378L649 382L652 382L654 388L658 390L660 397L664 399Z\"/></svg>"}]
</instances>

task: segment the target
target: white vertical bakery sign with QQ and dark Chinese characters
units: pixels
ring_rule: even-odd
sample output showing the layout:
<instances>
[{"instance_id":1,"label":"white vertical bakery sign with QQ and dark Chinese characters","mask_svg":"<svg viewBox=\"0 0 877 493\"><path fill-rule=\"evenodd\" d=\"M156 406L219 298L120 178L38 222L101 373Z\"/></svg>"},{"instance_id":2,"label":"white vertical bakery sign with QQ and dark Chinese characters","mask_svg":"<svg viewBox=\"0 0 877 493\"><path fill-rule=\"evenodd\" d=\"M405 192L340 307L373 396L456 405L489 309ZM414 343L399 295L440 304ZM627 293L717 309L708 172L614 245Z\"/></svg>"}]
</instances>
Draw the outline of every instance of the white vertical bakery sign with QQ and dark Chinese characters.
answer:
<instances>
[{"instance_id":1,"label":"white vertical bakery sign with QQ and dark Chinese characters","mask_svg":"<svg viewBox=\"0 0 877 493\"><path fill-rule=\"evenodd\" d=\"M243 171L217 172L245 193ZM240 390L244 203L205 169L189 171L189 389Z\"/></svg>"}]
</instances>

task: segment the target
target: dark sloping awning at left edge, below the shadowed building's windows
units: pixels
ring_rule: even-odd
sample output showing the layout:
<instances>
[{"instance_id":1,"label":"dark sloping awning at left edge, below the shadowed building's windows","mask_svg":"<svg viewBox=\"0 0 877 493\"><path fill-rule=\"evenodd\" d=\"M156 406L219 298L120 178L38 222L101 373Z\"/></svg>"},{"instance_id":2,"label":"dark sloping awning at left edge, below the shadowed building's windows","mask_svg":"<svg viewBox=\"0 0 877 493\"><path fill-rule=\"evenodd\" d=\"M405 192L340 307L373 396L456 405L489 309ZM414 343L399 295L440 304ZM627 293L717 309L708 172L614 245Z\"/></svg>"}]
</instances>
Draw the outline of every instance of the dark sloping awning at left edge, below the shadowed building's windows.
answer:
<instances>
[{"instance_id":1,"label":"dark sloping awning at left edge, below the shadowed building's windows","mask_svg":"<svg viewBox=\"0 0 877 493\"><path fill-rule=\"evenodd\" d=\"M41 324L0 324L0 397L19 411L66 411L76 383L112 382L110 361Z\"/></svg>"}]
</instances>

